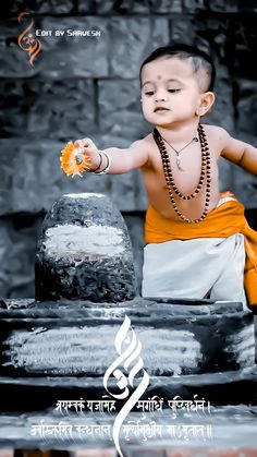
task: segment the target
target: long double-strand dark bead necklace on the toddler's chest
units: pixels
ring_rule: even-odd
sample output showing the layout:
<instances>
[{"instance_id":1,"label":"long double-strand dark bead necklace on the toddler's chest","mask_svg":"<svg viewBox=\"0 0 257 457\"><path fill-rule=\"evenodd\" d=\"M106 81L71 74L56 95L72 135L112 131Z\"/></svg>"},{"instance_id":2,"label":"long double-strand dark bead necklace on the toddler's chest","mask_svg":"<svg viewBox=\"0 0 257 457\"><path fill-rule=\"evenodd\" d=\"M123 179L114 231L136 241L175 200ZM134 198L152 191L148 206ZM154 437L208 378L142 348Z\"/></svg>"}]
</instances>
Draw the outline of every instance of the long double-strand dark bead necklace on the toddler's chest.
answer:
<instances>
[{"instance_id":1,"label":"long double-strand dark bead necklace on the toddler's chest","mask_svg":"<svg viewBox=\"0 0 257 457\"><path fill-rule=\"evenodd\" d=\"M166 178L166 183L168 187L168 192L170 195L171 204L174 208L174 212L178 214L178 216L183 219L186 223L191 224L197 224L205 219L205 217L208 214L208 207L210 203L210 182L211 182L211 175L210 175L210 152L209 146L206 140L206 133L204 130L204 127L201 124L198 125L198 135L199 135L199 142L200 142L200 149L201 149L201 170L200 170L200 177L198 184L196 189L191 194L183 194L179 188L176 187L172 173L172 168L170 164L169 154L167 152L164 141L160 134L160 132L155 128L152 132L154 140L160 151L161 159L162 159L162 167ZM189 219L188 217L184 216L178 208L175 200L174 200L174 193L182 200L192 200L197 196L199 191L201 190L201 187L204 184L206 178L206 199L205 199L205 207L204 211L197 219Z\"/></svg>"}]
</instances>

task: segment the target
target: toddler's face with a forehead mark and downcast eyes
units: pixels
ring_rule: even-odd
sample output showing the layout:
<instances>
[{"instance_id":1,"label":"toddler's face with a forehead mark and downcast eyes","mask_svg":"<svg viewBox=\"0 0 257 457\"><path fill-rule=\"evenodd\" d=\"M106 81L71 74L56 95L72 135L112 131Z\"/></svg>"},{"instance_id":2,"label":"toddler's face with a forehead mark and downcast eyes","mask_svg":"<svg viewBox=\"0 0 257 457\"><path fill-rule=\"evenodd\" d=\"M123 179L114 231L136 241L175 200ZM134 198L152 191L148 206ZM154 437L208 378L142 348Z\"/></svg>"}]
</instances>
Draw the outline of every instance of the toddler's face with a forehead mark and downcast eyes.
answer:
<instances>
[{"instance_id":1,"label":"toddler's face with a forehead mark and downcast eyes","mask_svg":"<svg viewBox=\"0 0 257 457\"><path fill-rule=\"evenodd\" d=\"M154 125L195 118L201 93L189 59L164 56L143 67L143 113Z\"/></svg>"}]
</instances>

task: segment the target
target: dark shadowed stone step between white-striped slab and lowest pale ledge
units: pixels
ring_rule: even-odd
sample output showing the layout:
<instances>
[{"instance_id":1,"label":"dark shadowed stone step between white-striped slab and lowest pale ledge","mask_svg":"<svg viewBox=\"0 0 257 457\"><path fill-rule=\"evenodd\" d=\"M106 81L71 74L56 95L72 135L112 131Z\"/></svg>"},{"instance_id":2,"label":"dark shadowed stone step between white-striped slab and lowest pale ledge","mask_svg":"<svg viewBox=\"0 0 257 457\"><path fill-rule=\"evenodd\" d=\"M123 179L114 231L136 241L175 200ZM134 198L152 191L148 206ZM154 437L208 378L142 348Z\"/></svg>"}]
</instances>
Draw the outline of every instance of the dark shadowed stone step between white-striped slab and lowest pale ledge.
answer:
<instances>
[{"instance_id":1,"label":"dark shadowed stone step between white-striped slab and lowest pale ledge","mask_svg":"<svg viewBox=\"0 0 257 457\"><path fill-rule=\"evenodd\" d=\"M135 384L136 386L136 384ZM113 380L109 389L118 392ZM13 411L46 411L54 409L59 400L101 400L107 395L102 377L0 377L0 413ZM150 376L147 390L140 399L157 396L163 399L163 409L175 396L183 400L205 398L211 405L255 405L257 406L257 365L238 371L197 374L185 376ZM115 402L120 410L122 401Z\"/></svg>"}]
</instances>

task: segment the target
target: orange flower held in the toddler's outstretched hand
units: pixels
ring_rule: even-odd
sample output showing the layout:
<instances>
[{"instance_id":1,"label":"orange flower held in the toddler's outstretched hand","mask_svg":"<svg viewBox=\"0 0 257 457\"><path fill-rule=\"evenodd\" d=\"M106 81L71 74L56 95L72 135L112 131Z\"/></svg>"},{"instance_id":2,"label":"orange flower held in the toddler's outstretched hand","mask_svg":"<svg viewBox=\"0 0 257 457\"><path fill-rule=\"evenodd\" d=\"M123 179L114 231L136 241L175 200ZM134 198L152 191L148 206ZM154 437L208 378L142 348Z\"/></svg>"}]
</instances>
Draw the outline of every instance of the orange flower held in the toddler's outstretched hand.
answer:
<instances>
[{"instance_id":1,"label":"orange flower held in the toddler's outstretched hand","mask_svg":"<svg viewBox=\"0 0 257 457\"><path fill-rule=\"evenodd\" d=\"M60 157L61 168L68 176L82 177L84 171L87 171L90 166L90 157L83 153L83 148L74 146L70 141Z\"/></svg>"}]
</instances>

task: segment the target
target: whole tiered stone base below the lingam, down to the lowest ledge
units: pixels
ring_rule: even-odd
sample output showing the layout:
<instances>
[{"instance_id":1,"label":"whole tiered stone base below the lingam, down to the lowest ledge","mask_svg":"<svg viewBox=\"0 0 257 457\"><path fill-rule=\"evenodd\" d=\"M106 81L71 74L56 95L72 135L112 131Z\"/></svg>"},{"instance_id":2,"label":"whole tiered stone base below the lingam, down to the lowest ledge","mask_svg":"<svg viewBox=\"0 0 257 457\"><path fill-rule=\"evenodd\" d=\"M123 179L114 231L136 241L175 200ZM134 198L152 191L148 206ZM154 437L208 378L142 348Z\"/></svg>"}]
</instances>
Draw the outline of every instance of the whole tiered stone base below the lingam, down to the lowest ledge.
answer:
<instances>
[{"instance_id":1,"label":"whole tiered stone base below the lingam, down to the lowest ledge","mask_svg":"<svg viewBox=\"0 0 257 457\"><path fill-rule=\"evenodd\" d=\"M156 398L162 407L143 411L138 404L134 406L120 432L124 456L138 445L146 453L158 446L180 446L182 442L186 446L209 446L213 443L211 428L216 445L234 445L231 438L227 443L232 425L233 434L238 432L240 436L241 432L242 436L244 432L245 444L257 445L253 313L234 302L137 297L115 304L64 299L0 301L0 447L113 447L112 426L126 400L115 401L110 412L89 410L88 405L107 395L103 376L118 358L115 338L126 316L140 341L138 357L149 375L140 400ZM140 375L133 387L139 382ZM120 392L113 376L109 377L108 388ZM204 399L210 411L174 411L169 404L174 398ZM84 401L86 408L60 411L58 405L65 400ZM146 429L140 429L139 436L132 433L127 438L126 426L133 423ZM53 429L40 435L35 433L35 425L40 424ZM100 437L99 425L103 426ZM150 425L152 435L145 440L144 430L149 432ZM61 435L54 436L53 430ZM194 441L187 443L184 434L193 432Z\"/></svg>"}]
</instances>

